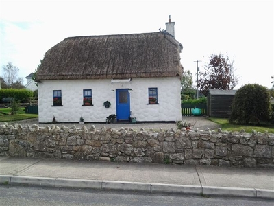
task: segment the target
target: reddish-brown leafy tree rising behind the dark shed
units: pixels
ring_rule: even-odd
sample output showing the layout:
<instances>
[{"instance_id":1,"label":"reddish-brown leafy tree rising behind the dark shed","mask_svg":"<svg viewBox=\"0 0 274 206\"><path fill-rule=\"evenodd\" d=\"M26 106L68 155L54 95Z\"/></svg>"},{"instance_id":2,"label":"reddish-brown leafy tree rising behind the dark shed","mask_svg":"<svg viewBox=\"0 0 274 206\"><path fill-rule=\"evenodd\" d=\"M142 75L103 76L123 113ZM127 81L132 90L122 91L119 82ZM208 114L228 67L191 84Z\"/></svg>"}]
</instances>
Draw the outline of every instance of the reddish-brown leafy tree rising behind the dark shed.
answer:
<instances>
[{"instance_id":1,"label":"reddish-brown leafy tree rising behind the dark shed","mask_svg":"<svg viewBox=\"0 0 274 206\"><path fill-rule=\"evenodd\" d=\"M234 61L223 54L212 54L205 72L199 74L198 87L203 95L208 95L208 89L233 89L238 78L234 75Z\"/></svg>"}]
</instances>

